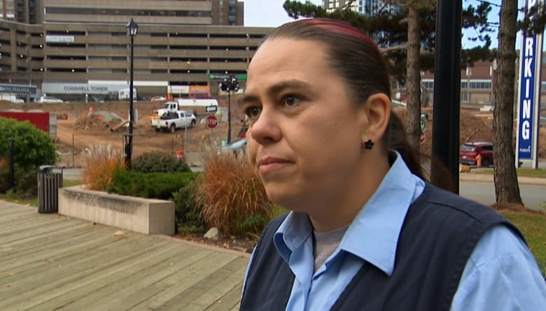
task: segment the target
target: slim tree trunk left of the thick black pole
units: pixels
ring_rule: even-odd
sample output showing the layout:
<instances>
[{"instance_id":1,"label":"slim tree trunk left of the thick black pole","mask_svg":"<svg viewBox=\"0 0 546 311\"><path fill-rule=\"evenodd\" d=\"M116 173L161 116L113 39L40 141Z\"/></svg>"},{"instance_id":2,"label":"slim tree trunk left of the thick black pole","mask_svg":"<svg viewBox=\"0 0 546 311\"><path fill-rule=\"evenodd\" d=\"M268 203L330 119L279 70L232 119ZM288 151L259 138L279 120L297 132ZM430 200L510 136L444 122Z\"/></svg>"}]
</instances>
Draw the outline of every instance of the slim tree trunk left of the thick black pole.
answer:
<instances>
[{"instance_id":1,"label":"slim tree trunk left of the thick black pole","mask_svg":"<svg viewBox=\"0 0 546 311\"><path fill-rule=\"evenodd\" d=\"M409 145L419 152L419 136L421 136L421 38L419 36L419 10L408 6L407 14L407 133Z\"/></svg>"}]
</instances>

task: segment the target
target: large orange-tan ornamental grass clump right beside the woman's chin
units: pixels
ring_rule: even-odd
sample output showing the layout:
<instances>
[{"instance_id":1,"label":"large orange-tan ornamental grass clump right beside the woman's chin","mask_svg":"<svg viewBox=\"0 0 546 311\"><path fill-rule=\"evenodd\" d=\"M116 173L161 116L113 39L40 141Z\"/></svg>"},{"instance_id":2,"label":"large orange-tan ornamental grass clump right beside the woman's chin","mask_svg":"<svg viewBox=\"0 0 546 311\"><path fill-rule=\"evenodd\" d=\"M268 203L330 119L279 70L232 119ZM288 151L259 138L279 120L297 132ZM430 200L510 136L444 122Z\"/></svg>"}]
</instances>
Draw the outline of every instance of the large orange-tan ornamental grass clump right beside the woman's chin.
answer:
<instances>
[{"instance_id":1,"label":"large orange-tan ornamental grass clump right beside the woman's chin","mask_svg":"<svg viewBox=\"0 0 546 311\"><path fill-rule=\"evenodd\" d=\"M195 201L204 221L225 235L258 234L272 217L274 205L245 157L209 152L196 181Z\"/></svg>"}]
</instances>

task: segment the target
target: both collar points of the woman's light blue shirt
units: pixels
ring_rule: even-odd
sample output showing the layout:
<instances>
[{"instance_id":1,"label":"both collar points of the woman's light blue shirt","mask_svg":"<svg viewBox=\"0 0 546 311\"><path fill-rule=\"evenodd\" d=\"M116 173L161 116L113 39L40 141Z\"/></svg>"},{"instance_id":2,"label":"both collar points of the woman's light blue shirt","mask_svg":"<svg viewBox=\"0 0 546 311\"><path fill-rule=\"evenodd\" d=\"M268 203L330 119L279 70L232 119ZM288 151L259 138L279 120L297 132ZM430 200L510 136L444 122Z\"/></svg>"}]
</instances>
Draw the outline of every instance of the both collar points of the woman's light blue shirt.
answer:
<instances>
[{"instance_id":1,"label":"both collar points of the woman's light blue shirt","mask_svg":"<svg viewBox=\"0 0 546 311\"><path fill-rule=\"evenodd\" d=\"M339 249L377 266L387 275L394 270L396 246L409 205L422 193L424 182L409 171L398 152L381 185L347 229ZM289 262L313 227L307 214L290 212L274 234L279 254Z\"/></svg>"}]
</instances>

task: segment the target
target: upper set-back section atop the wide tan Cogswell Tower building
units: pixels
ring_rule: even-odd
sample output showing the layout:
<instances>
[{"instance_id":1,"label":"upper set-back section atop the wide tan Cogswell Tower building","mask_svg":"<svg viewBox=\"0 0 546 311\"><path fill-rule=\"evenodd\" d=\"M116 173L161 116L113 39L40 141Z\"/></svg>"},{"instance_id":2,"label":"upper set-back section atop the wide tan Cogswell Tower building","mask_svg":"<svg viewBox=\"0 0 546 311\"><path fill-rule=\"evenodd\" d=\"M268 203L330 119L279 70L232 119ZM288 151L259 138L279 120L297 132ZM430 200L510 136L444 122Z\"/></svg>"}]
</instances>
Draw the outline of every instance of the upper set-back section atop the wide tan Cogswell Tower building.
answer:
<instances>
[{"instance_id":1,"label":"upper set-back section atop the wide tan Cogswell Tower building","mask_svg":"<svg viewBox=\"0 0 546 311\"><path fill-rule=\"evenodd\" d=\"M11 3L12 18L25 24L44 22L140 24L244 24L244 3L237 0L0 0ZM7 6L7 5L6 5Z\"/></svg>"}]
</instances>

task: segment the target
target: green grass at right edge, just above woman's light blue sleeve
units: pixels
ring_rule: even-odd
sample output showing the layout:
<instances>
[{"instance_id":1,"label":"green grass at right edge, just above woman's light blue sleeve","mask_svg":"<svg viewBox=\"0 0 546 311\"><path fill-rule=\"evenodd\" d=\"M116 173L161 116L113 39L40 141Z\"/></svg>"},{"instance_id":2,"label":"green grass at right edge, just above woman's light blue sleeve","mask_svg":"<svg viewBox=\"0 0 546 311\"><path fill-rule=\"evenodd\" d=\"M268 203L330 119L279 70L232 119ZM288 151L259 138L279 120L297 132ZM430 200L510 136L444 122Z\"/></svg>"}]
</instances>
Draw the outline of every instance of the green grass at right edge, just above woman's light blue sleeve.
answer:
<instances>
[{"instance_id":1,"label":"green grass at right edge, just above woman's light blue sleeve","mask_svg":"<svg viewBox=\"0 0 546 311\"><path fill-rule=\"evenodd\" d=\"M507 219L515 224L525 236L527 244L535 255L542 270L546 273L546 215L540 212L501 211Z\"/></svg>"}]
</instances>

